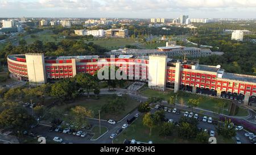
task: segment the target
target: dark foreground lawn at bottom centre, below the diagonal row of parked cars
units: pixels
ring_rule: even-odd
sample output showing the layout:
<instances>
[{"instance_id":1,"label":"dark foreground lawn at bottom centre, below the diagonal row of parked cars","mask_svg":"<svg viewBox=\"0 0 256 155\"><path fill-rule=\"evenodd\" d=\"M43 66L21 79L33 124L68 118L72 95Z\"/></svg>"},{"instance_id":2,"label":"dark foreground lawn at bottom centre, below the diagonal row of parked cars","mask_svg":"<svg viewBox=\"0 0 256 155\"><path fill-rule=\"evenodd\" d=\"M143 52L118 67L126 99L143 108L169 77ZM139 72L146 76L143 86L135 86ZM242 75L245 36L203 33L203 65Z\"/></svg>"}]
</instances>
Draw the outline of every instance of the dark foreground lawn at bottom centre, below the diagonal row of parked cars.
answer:
<instances>
[{"instance_id":1,"label":"dark foreground lawn at bottom centre, below the diagonal row of parked cars","mask_svg":"<svg viewBox=\"0 0 256 155\"><path fill-rule=\"evenodd\" d=\"M131 140L135 139L137 141L142 141L147 143L148 141L153 141L155 144L197 144L196 140L185 140L181 139L177 136L176 130L174 131L172 136L163 137L159 136L159 128L152 129L151 136L149 135L150 129L145 127L142 124L142 117L135 120L133 124L131 124L125 131L121 133L121 135L117 136L113 142L115 144L122 144L125 139ZM220 144L227 144L227 143L234 143L232 139L226 140L223 139L222 136L217 136L217 143Z\"/></svg>"}]
</instances>

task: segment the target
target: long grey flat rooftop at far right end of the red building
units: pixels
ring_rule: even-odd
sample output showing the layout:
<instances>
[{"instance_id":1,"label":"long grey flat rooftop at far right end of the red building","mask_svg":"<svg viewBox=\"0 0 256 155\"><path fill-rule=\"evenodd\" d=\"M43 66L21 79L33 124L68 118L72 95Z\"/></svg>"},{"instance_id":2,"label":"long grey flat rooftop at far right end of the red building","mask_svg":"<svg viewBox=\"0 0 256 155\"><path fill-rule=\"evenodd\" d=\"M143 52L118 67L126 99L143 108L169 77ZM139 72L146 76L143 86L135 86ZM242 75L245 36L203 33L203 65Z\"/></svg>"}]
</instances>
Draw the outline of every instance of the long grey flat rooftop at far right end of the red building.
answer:
<instances>
[{"instance_id":1,"label":"long grey flat rooftop at far right end of the red building","mask_svg":"<svg viewBox=\"0 0 256 155\"><path fill-rule=\"evenodd\" d=\"M256 76L248 76L248 75L233 74L233 73L224 73L222 78L256 83Z\"/></svg>"}]
</instances>

